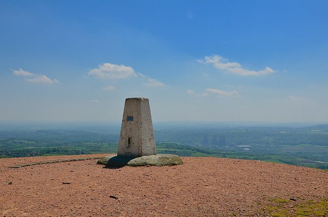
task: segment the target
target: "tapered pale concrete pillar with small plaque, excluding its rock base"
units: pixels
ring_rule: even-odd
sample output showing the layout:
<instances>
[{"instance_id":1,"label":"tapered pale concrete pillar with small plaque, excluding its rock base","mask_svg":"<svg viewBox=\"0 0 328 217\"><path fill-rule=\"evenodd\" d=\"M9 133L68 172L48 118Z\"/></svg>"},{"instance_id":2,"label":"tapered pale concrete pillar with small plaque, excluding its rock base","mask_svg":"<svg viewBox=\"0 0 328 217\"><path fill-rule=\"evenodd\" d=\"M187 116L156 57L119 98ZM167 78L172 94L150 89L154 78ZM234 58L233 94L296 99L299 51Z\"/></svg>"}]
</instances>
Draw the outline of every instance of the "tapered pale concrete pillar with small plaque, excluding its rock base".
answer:
<instances>
[{"instance_id":1,"label":"tapered pale concrete pillar with small plaque, excluding its rock base","mask_svg":"<svg viewBox=\"0 0 328 217\"><path fill-rule=\"evenodd\" d=\"M117 156L156 155L156 144L149 100L127 98L125 100Z\"/></svg>"}]
</instances>

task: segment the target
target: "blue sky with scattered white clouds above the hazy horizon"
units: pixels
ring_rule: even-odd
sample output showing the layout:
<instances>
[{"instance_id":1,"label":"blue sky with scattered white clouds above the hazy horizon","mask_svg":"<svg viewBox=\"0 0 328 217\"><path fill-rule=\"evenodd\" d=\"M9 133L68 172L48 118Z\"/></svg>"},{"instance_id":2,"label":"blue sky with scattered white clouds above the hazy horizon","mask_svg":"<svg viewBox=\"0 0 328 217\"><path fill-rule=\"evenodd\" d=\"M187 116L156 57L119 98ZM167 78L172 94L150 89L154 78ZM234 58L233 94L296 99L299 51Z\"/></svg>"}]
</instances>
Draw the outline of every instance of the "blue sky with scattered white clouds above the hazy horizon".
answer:
<instances>
[{"instance_id":1,"label":"blue sky with scattered white clouds above the hazy horizon","mask_svg":"<svg viewBox=\"0 0 328 217\"><path fill-rule=\"evenodd\" d=\"M327 1L0 1L0 121L328 122Z\"/></svg>"}]
</instances>

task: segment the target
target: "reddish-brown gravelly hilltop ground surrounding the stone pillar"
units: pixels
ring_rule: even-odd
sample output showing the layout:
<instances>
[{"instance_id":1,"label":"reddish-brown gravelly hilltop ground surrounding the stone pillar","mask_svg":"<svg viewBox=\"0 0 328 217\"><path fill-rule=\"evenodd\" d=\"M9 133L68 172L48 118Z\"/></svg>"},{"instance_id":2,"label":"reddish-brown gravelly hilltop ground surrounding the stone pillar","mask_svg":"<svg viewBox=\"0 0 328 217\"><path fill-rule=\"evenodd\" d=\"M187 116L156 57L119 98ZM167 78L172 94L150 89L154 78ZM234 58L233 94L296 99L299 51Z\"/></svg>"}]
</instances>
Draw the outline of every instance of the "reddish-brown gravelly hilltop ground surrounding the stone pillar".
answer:
<instances>
[{"instance_id":1,"label":"reddish-brown gravelly hilltop ground surrounding the stone pillar","mask_svg":"<svg viewBox=\"0 0 328 217\"><path fill-rule=\"evenodd\" d=\"M97 159L11 167L100 156L106 155L0 159L0 216L285 216L278 214L311 205L316 216L327 210L328 173L307 167L193 157L170 167L105 168Z\"/></svg>"}]
</instances>

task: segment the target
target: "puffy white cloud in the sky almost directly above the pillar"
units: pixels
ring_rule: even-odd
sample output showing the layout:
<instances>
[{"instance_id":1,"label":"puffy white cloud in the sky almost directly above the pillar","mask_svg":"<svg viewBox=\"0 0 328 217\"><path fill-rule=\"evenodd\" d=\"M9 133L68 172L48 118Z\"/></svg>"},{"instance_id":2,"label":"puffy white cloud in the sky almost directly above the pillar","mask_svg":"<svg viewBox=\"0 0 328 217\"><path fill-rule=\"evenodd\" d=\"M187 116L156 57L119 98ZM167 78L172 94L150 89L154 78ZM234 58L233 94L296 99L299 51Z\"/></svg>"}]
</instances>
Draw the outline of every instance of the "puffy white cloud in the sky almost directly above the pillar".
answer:
<instances>
[{"instance_id":1,"label":"puffy white cloud in the sky almost directly above the pillar","mask_svg":"<svg viewBox=\"0 0 328 217\"><path fill-rule=\"evenodd\" d=\"M98 69L91 70L88 75L95 75L100 79L121 79L129 77L137 77L137 74L131 67L124 65L116 65L111 63L104 63L99 65Z\"/></svg>"}]
</instances>

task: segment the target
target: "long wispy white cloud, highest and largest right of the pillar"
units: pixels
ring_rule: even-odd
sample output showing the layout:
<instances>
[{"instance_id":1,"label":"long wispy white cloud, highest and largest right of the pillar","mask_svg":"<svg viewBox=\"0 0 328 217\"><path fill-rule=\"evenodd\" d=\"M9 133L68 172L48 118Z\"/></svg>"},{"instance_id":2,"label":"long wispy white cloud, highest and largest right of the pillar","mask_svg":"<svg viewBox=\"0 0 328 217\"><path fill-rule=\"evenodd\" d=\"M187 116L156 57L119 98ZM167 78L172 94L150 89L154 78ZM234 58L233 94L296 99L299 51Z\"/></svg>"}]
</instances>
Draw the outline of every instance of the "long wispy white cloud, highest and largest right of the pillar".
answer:
<instances>
[{"instance_id":1,"label":"long wispy white cloud, highest and largest right of the pillar","mask_svg":"<svg viewBox=\"0 0 328 217\"><path fill-rule=\"evenodd\" d=\"M197 59L197 61L205 64L213 64L217 69L226 70L226 73L234 73L243 76L266 75L278 72L272 70L270 67L265 67L265 69L259 71L243 69L238 62L229 62L228 59L219 55L205 56L204 59Z\"/></svg>"}]
</instances>

